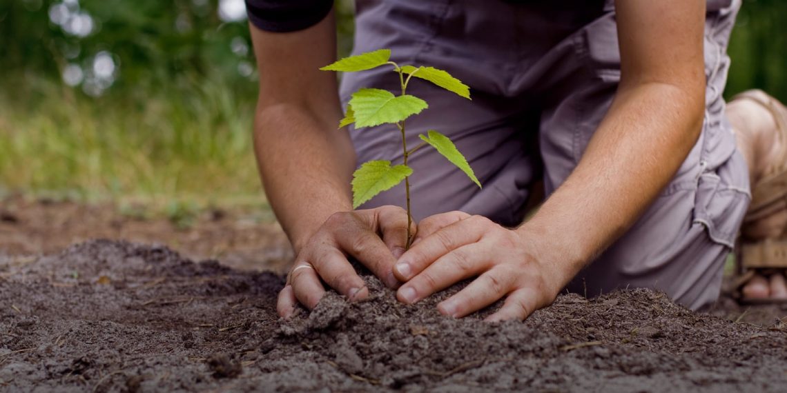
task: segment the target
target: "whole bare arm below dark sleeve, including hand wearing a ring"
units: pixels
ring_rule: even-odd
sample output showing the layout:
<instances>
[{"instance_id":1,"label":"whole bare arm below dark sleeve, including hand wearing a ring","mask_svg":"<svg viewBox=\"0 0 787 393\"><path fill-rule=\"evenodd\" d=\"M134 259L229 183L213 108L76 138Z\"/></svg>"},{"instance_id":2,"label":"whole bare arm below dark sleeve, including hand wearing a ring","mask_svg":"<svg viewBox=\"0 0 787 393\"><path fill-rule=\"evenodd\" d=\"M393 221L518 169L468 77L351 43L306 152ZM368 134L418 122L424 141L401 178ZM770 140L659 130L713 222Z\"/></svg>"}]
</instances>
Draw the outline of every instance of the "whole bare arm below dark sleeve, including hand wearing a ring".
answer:
<instances>
[{"instance_id":1,"label":"whole bare arm below dark sleeve, including hand wearing a ring","mask_svg":"<svg viewBox=\"0 0 787 393\"><path fill-rule=\"evenodd\" d=\"M250 25L260 72L254 149L265 193L297 254L277 308L289 317L297 303L313 308L323 282L350 299L368 288L347 255L395 286L392 252L404 251L407 215L385 206L353 211L350 179L356 156L333 72L334 14L303 31L270 33Z\"/></svg>"}]
</instances>

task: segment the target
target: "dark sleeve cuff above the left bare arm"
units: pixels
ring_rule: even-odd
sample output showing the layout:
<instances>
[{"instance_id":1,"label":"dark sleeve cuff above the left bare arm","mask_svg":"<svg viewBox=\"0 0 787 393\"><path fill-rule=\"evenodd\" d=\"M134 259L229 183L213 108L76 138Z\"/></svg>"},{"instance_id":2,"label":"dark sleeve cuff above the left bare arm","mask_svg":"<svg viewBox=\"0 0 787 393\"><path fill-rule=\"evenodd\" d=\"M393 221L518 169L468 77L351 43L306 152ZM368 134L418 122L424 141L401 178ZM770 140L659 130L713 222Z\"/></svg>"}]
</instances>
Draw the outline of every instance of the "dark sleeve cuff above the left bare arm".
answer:
<instances>
[{"instance_id":1,"label":"dark sleeve cuff above the left bare arm","mask_svg":"<svg viewBox=\"0 0 787 393\"><path fill-rule=\"evenodd\" d=\"M260 30L283 33L314 26L333 6L334 0L246 0L246 13Z\"/></svg>"}]
</instances>

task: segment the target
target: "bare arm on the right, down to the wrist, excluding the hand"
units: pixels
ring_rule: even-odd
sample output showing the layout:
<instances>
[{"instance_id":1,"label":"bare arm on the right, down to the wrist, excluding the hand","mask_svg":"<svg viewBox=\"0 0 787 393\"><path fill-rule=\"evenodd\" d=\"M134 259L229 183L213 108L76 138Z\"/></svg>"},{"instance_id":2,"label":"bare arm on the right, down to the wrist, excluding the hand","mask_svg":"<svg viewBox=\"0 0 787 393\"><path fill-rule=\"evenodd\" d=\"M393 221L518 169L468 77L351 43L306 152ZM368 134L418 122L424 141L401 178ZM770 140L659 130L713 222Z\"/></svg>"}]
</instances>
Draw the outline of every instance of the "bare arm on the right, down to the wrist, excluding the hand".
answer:
<instances>
[{"instance_id":1,"label":"bare arm on the right, down to the wrist, excluding the hand","mask_svg":"<svg viewBox=\"0 0 787 393\"><path fill-rule=\"evenodd\" d=\"M704 5L615 2L621 55L615 100L575 171L523 228L576 244L560 255L572 261L571 273L634 224L700 135Z\"/></svg>"}]
</instances>

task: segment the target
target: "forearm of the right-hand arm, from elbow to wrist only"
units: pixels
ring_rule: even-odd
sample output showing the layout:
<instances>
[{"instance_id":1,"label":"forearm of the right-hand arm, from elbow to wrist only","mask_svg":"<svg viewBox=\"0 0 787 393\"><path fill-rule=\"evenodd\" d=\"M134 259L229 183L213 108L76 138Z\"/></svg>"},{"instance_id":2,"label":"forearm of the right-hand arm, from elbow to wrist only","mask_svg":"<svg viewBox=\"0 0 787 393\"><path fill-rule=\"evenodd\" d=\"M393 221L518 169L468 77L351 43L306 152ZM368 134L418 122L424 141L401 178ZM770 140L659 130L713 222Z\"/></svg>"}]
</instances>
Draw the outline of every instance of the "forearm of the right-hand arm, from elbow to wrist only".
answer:
<instances>
[{"instance_id":1,"label":"forearm of the right-hand arm, from elbow to wrist only","mask_svg":"<svg viewBox=\"0 0 787 393\"><path fill-rule=\"evenodd\" d=\"M520 231L563 284L620 237L670 182L701 130L696 88L641 83L619 90L582 160Z\"/></svg>"}]
</instances>

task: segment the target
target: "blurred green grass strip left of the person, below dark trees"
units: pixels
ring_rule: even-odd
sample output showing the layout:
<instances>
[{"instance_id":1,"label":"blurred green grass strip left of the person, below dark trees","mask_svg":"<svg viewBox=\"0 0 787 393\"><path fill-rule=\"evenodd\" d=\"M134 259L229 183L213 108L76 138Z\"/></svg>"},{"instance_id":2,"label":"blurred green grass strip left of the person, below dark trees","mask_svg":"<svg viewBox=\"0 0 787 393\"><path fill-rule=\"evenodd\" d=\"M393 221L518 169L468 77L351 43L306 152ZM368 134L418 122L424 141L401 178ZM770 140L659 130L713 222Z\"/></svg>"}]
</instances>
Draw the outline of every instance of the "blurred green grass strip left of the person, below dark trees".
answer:
<instances>
[{"instance_id":1,"label":"blurred green grass strip left of the person, below dark trees","mask_svg":"<svg viewBox=\"0 0 787 393\"><path fill-rule=\"evenodd\" d=\"M21 77L24 79L24 75ZM219 76L134 97L84 97L47 79L0 93L0 187L76 200L263 200L253 101Z\"/></svg>"}]
</instances>

